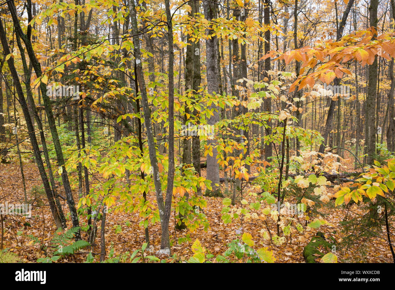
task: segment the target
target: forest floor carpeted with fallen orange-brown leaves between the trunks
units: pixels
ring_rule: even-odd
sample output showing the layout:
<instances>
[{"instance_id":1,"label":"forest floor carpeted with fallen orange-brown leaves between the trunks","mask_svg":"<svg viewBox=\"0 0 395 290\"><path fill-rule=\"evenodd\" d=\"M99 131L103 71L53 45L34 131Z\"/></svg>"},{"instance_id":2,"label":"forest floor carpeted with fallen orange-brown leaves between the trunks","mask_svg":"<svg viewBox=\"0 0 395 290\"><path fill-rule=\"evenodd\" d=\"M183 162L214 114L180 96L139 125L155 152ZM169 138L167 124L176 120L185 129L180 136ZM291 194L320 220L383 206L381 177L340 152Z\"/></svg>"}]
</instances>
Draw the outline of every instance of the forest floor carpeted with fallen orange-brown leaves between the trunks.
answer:
<instances>
[{"instance_id":1,"label":"forest floor carpeted with fallen orange-brown leaves between the trunks","mask_svg":"<svg viewBox=\"0 0 395 290\"><path fill-rule=\"evenodd\" d=\"M346 158L349 158L346 156ZM353 169L353 160L345 159L342 162L342 168L340 172L351 172ZM223 172L222 172L223 174ZM38 174L35 163L24 164L24 175L26 179L26 191L28 193L28 199L33 198L30 190L32 187L41 185L41 178ZM202 175L205 176L205 168L202 168ZM221 185L224 187L224 184ZM328 188L333 193L333 188ZM248 195L248 192L256 191L256 186L251 183L246 184L243 188L243 198L248 202L255 202L256 197ZM0 164L0 204L4 204L7 201L11 203L22 203L24 200L23 183L21 179L21 170L19 163ZM73 191L75 203L78 202L78 192ZM154 195L149 194L148 198L154 201ZM272 235L276 234L276 223L270 217L267 216L266 223L261 219L251 219L250 221L244 221L241 225L240 221L232 221L231 224L225 225L221 219L221 210L224 207L222 204L222 198L204 197L207 200L207 207L204 209L204 213L210 224L210 228L207 232L199 228L198 231L190 233L192 243L195 239L199 239L204 247L209 250L215 256L223 254L226 251L227 243L231 242L236 238L236 230L243 226L243 232L249 232L252 234L257 246L268 247L272 250L276 258L276 262L305 262L303 257L303 248L307 243L315 236L316 232L320 231L324 233L325 238L333 236L337 241L341 241L344 238L344 229L339 223L344 219L350 212L358 213L359 209L354 204L351 206L349 213L343 207L334 207L334 201L331 200L332 206L325 207L323 211L328 215L325 219L331 223L331 225L321 226L318 230L311 229L309 231L303 231L303 234L293 235L292 241L286 239L286 242L282 245L274 245L271 243L271 239L263 239L260 231L261 229L270 229ZM45 197L43 197L45 201ZM67 215L68 207L65 202L64 211ZM239 202L240 204L240 202ZM25 220L28 221L30 226L24 226ZM126 222L129 221L128 226ZM106 247L107 255L110 253L110 249L113 248L114 255L124 254L129 251L132 253L137 249L141 249L141 245L145 242L144 228L139 226L138 213L114 213L110 211L107 214L106 219ZM171 247L172 254L176 254L177 260L182 261L190 258L193 253L191 251L192 243L177 244L180 236L185 236L189 233L189 230L182 230L177 232L174 228L174 215L170 219L170 235L174 242ZM70 223L70 221L68 221ZM304 223L303 223L304 225ZM71 226L71 223L70 223ZM119 226L120 229L119 230ZM395 226L395 225L392 225ZM53 238L56 227L51 218L51 212L48 206L34 206L32 210L32 217L21 217L17 215L6 215L4 219L4 248L10 248L9 251L17 254L21 262L35 262L37 258L44 257L44 252L40 250L40 243L33 244L33 240L28 235L36 236L41 243L48 245L49 241ZM383 228L383 236L384 235ZM150 252L150 255L155 255L156 251L160 249L160 224L149 225L150 234L150 246L146 252ZM86 233L83 233L83 238L87 239ZM329 240L329 239L328 239ZM363 247L365 255L361 254ZM87 251L84 251L87 253ZM100 253L100 229L96 236L96 244L93 249L94 253ZM323 250L323 253L327 251ZM365 245L361 243L355 243L347 249L337 251L338 262L393 262L393 258L386 241L380 238L371 238L366 241ZM86 254L77 254L69 256L68 258L60 259L58 262L83 262L86 260ZM96 256L98 257L98 256ZM95 260L98 260L95 258ZM215 262L215 258L211 259ZM320 262L320 259L316 259Z\"/></svg>"}]
</instances>

